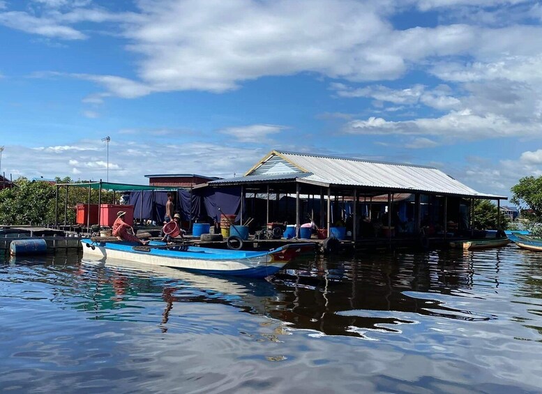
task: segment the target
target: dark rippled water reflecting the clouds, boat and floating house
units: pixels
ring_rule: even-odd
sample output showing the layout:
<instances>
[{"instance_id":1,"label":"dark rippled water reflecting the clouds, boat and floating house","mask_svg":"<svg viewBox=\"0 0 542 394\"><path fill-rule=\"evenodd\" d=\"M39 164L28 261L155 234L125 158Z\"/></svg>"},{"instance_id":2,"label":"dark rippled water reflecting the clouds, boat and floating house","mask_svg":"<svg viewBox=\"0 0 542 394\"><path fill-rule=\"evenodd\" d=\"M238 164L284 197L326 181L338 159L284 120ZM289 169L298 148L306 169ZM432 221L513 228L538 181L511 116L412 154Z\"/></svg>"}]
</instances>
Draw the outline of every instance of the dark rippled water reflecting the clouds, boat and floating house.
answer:
<instances>
[{"instance_id":1,"label":"dark rippled water reflecting the clouds, boat and floating house","mask_svg":"<svg viewBox=\"0 0 542 394\"><path fill-rule=\"evenodd\" d=\"M8 258L0 391L540 392L541 257L317 257L270 282Z\"/></svg>"}]
</instances>

